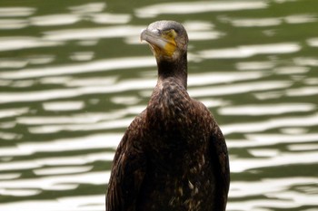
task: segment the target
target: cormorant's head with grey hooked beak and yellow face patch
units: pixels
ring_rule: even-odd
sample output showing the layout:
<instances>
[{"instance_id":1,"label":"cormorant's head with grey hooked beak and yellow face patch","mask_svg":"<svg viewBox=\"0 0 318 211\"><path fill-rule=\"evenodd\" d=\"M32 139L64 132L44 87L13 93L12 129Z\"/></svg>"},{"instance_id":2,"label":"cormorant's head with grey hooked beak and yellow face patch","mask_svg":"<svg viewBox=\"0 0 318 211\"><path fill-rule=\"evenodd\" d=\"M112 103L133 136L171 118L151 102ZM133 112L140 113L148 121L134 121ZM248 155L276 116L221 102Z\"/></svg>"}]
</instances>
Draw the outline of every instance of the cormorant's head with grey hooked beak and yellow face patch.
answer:
<instances>
[{"instance_id":1,"label":"cormorant's head with grey hooked beak and yellow face patch","mask_svg":"<svg viewBox=\"0 0 318 211\"><path fill-rule=\"evenodd\" d=\"M157 61L174 61L186 53L188 35L182 24L175 21L157 21L149 24L140 35L149 43Z\"/></svg>"}]
</instances>

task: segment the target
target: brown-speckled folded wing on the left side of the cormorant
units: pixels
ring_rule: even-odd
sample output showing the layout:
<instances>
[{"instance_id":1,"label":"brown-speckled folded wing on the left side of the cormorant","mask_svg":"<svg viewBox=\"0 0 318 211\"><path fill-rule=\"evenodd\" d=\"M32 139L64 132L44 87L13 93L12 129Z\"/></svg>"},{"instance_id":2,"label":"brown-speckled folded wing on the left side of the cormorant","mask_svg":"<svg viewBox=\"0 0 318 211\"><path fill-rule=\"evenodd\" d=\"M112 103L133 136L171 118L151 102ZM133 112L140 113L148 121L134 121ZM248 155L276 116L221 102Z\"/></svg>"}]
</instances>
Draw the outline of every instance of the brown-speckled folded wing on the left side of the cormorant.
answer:
<instances>
[{"instance_id":1,"label":"brown-speckled folded wing on the left side of the cormorant","mask_svg":"<svg viewBox=\"0 0 318 211\"><path fill-rule=\"evenodd\" d=\"M116 150L106 195L107 211L135 210L146 167L140 141L142 116L134 119Z\"/></svg>"}]
</instances>

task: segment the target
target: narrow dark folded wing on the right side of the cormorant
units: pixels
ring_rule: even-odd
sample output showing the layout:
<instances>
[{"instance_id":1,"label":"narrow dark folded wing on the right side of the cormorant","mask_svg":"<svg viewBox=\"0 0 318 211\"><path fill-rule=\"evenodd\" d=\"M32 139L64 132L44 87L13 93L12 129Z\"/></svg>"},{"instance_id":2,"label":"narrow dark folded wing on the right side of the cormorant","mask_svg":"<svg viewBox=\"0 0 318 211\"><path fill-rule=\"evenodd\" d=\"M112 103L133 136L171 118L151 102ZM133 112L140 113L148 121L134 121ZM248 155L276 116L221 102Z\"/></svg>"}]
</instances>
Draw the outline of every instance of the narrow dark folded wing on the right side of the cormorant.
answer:
<instances>
[{"instance_id":1,"label":"narrow dark folded wing on the right side of the cormorant","mask_svg":"<svg viewBox=\"0 0 318 211\"><path fill-rule=\"evenodd\" d=\"M210 137L210 150L214 165L216 185L215 203L217 210L225 210L227 194L230 187L230 167L227 147L221 129L215 125L216 131Z\"/></svg>"}]
</instances>

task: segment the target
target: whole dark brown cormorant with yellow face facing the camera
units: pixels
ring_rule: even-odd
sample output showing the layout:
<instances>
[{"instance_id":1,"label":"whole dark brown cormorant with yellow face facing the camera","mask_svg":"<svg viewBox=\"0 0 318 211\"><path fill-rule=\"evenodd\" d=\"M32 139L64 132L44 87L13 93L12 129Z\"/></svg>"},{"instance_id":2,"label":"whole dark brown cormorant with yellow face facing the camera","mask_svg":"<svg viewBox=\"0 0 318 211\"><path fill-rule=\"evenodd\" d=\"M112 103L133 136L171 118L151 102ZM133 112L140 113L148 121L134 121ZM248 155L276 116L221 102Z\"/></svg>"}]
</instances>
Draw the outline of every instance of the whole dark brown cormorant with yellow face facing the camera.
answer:
<instances>
[{"instance_id":1,"label":"whole dark brown cormorant with yellow face facing the camera","mask_svg":"<svg viewBox=\"0 0 318 211\"><path fill-rule=\"evenodd\" d=\"M158 78L114 153L106 211L223 211L228 150L210 110L187 92L186 30L156 21L140 38L154 53Z\"/></svg>"}]
</instances>

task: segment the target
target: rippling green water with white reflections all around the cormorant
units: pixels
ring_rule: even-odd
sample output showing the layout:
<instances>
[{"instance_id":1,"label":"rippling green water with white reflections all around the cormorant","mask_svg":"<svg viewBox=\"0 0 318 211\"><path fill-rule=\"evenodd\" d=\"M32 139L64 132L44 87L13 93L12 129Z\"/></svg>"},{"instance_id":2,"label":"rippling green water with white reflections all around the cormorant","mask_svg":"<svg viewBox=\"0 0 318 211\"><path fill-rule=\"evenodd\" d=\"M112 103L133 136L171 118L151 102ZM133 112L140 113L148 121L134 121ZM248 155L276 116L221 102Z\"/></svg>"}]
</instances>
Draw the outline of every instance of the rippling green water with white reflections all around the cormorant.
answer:
<instances>
[{"instance_id":1,"label":"rippling green water with white reflections all around the cormorant","mask_svg":"<svg viewBox=\"0 0 318 211\"><path fill-rule=\"evenodd\" d=\"M187 29L188 91L224 131L227 210L317 210L317 8L1 0L0 210L104 210L114 150L156 82L139 34L162 19Z\"/></svg>"}]
</instances>

